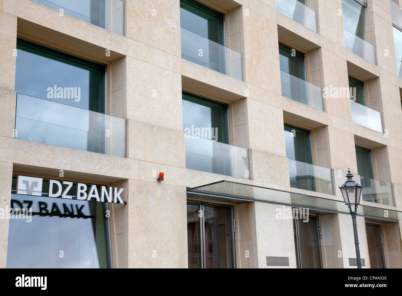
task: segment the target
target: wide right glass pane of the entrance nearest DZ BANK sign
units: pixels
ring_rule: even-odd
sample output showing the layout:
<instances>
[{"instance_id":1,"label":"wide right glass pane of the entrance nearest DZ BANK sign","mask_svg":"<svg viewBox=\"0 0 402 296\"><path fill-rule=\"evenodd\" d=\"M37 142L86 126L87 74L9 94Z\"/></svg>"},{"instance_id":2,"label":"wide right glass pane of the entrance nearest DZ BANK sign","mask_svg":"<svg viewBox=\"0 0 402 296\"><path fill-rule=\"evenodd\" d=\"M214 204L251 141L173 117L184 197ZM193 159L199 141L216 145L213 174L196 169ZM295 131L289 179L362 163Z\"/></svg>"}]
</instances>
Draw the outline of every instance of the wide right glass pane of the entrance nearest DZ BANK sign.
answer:
<instances>
[{"instance_id":1,"label":"wide right glass pane of the entrance nearest DZ BANK sign","mask_svg":"<svg viewBox=\"0 0 402 296\"><path fill-rule=\"evenodd\" d=\"M204 206L205 268L233 268L229 208Z\"/></svg>"}]
</instances>

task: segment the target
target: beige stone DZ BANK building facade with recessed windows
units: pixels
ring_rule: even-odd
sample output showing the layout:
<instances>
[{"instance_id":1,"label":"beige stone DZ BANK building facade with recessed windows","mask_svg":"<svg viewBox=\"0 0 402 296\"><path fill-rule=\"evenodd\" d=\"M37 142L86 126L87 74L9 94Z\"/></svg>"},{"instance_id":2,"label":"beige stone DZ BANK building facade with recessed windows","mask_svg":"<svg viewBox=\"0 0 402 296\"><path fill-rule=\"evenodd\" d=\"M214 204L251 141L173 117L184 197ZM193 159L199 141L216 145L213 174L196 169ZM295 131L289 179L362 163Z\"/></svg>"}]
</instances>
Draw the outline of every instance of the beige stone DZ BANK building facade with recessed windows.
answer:
<instances>
[{"instance_id":1,"label":"beige stone DZ BANK building facade with recessed windows","mask_svg":"<svg viewBox=\"0 0 402 296\"><path fill-rule=\"evenodd\" d=\"M401 6L0 0L0 267L402 267Z\"/></svg>"}]
</instances>

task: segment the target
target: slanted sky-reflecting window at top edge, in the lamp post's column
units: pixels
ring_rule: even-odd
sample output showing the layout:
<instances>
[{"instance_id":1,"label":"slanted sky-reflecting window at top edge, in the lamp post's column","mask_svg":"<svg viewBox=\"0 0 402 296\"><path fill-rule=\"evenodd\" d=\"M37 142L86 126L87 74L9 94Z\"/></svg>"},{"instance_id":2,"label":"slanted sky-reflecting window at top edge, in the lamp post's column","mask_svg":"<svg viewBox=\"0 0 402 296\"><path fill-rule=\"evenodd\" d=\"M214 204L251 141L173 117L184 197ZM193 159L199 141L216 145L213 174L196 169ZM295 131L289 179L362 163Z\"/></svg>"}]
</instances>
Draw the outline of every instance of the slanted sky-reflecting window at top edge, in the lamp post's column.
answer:
<instances>
[{"instance_id":1,"label":"slanted sky-reflecting window at top edge, in the lamp post's column","mask_svg":"<svg viewBox=\"0 0 402 296\"><path fill-rule=\"evenodd\" d=\"M342 0L343 27L364 40L366 8L355 0Z\"/></svg>"}]
</instances>

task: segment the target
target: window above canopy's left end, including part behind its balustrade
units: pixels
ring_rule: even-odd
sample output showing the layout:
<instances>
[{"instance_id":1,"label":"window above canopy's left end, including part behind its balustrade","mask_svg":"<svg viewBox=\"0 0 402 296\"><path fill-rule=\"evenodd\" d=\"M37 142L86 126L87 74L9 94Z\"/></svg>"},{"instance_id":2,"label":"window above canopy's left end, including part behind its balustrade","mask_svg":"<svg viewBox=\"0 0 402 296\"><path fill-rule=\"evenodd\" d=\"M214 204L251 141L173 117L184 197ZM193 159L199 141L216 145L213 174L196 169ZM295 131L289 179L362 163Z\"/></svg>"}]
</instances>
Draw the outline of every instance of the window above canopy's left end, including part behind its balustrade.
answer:
<instances>
[{"instance_id":1,"label":"window above canopy's left end, including part behind its balustrade","mask_svg":"<svg viewBox=\"0 0 402 296\"><path fill-rule=\"evenodd\" d=\"M231 176L228 106L183 92L186 168Z\"/></svg>"}]
</instances>

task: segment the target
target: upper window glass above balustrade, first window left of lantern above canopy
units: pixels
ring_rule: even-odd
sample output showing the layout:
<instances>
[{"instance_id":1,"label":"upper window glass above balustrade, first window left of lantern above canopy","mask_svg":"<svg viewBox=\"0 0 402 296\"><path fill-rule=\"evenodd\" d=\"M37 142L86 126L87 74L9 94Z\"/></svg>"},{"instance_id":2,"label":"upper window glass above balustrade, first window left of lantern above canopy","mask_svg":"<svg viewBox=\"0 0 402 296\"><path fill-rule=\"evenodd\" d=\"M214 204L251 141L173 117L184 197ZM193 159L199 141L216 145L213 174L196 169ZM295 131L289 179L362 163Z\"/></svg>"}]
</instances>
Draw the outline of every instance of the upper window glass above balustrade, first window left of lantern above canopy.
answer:
<instances>
[{"instance_id":1,"label":"upper window glass above balustrade, first window left of lantern above canopy","mask_svg":"<svg viewBox=\"0 0 402 296\"><path fill-rule=\"evenodd\" d=\"M312 164L310 131L285 124L286 157Z\"/></svg>"}]
</instances>

